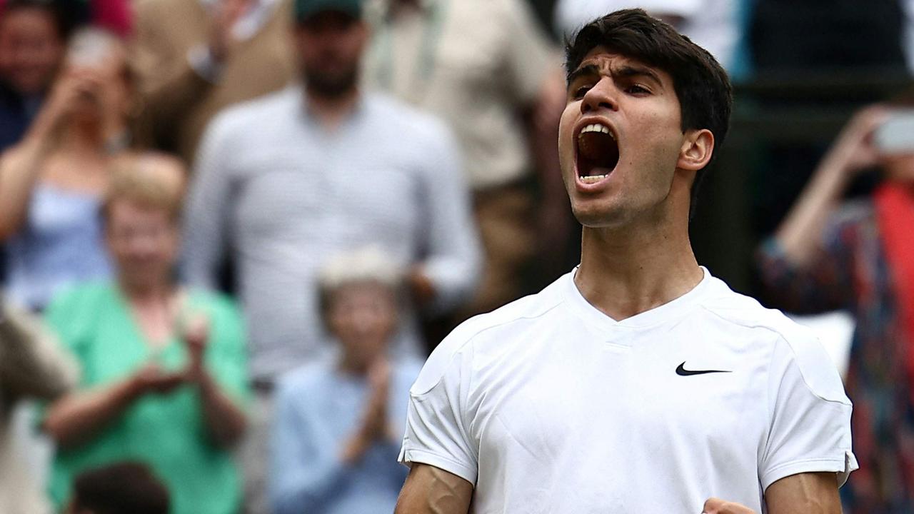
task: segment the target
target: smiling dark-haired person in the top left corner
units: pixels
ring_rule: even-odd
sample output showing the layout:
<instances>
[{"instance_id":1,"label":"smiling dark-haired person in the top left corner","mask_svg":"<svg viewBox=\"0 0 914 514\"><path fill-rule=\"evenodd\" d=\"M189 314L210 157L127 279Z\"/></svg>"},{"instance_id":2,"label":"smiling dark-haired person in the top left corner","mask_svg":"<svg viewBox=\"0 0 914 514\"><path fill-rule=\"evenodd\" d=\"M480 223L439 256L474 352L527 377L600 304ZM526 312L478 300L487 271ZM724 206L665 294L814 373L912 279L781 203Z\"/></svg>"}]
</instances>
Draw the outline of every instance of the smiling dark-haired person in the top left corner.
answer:
<instances>
[{"instance_id":1,"label":"smiling dark-haired person in the top left corner","mask_svg":"<svg viewBox=\"0 0 914 514\"><path fill-rule=\"evenodd\" d=\"M0 6L0 153L26 134L63 60L69 23L58 5Z\"/></svg>"}]
</instances>

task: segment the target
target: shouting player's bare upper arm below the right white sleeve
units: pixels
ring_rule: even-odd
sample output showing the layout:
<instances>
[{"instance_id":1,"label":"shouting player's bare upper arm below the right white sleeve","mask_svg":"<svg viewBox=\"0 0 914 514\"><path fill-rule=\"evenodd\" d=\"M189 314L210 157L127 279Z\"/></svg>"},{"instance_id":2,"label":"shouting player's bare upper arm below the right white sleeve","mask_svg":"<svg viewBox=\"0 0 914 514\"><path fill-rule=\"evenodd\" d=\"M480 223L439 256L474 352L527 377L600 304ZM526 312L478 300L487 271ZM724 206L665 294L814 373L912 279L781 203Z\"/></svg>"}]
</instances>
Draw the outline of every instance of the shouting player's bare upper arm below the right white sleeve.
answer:
<instances>
[{"instance_id":1,"label":"shouting player's bare upper arm below the right white sleeve","mask_svg":"<svg viewBox=\"0 0 914 514\"><path fill-rule=\"evenodd\" d=\"M841 514L834 473L784 477L765 491L769 514Z\"/></svg>"}]
</instances>

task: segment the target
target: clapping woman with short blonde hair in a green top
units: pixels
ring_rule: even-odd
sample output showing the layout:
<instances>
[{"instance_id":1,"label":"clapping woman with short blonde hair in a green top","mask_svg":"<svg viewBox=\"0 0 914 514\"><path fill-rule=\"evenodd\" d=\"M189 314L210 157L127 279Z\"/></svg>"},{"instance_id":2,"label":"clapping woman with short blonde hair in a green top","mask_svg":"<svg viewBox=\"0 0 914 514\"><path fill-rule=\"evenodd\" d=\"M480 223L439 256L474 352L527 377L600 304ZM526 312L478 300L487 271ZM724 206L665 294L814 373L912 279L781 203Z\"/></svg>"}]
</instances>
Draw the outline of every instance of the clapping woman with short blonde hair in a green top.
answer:
<instances>
[{"instance_id":1,"label":"clapping woman with short blonde hair in a green top","mask_svg":"<svg viewBox=\"0 0 914 514\"><path fill-rule=\"evenodd\" d=\"M80 360L78 391L43 426L58 444L51 496L123 459L165 480L173 514L231 514L240 484L230 447L245 426L244 337L227 299L172 281L186 173L174 159L115 163L102 216L117 275L58 295L47 319Z\"/></svg>"}]
</instances>

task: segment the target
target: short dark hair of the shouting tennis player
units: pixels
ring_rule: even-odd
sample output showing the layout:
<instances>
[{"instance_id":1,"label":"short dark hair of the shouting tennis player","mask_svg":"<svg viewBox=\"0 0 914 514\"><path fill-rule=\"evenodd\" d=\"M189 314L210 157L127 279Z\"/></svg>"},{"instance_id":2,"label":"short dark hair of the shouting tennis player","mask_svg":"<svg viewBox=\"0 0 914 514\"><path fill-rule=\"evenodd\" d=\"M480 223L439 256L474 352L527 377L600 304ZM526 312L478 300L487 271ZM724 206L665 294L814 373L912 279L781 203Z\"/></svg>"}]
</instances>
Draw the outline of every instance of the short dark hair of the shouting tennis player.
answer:
<instances>
[{"instance_id":1,"label":"short dark hair of the shouting tennis player","mask_svg":"<svg viewBox=\"0 0 914 514\"><path fill-rule=\"evenodd\" d=\"M600 46L670 74L679 99L682 130L707 129L714 134L713 162L727 137L733 105L727 72L717 59L642 9L624 9L591 21L566 42L569 76L590 50ZM692 212L706 169L696 173L692 184Z\"/></svg>"}]
</instances>

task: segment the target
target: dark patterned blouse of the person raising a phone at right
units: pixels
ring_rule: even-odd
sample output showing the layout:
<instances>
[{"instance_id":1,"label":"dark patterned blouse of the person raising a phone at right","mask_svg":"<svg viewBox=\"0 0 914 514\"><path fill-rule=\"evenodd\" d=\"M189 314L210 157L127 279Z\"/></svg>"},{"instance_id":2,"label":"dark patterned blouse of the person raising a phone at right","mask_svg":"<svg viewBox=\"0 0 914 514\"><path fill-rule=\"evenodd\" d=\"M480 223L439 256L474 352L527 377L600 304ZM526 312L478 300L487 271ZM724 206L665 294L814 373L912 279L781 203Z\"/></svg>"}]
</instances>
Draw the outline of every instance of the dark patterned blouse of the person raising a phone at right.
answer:
<instances>
[{"instance_id":1,"label":"dark patterned blouse of the person raising a phone at right","mask_svg":"<svg viewBox=\"0 0 914 514\"><path fill-rule=\"evenodd\" d=\"M797 314L844 309L856 318L845 388L860 469L842 497L851 514L914 512L914 402L892 272L871 200L848 202L825 224L813 264L789 262L779 243L759 252L761 279Z\"/></svg>"}]
</instances>

